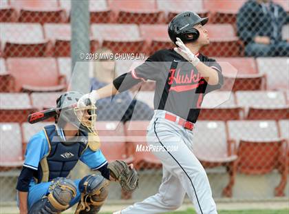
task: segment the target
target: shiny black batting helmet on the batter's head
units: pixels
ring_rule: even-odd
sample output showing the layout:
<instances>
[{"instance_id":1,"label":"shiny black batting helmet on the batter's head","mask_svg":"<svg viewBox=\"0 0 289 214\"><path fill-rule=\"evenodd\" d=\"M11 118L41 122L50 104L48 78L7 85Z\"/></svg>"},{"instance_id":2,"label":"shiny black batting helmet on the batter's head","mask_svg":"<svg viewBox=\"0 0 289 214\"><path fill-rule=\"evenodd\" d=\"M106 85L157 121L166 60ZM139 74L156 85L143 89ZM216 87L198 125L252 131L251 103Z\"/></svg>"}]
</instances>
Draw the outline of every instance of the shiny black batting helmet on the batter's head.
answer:
<instances>
[{"instance_id":1,"label":"shiny black batting helmet on the batter's head","mask_svg":"<svg viewBox=\"0 0 289 214\"><path fill-rule=\"evenodd\" d=\"M182 12L171 20L169 23L169 37L175 43L176 38L179 37L184 43L196 41L200 36L200 32L193 28L197 23L203 26L208 22L208 17L201 18L198 14L191 11Z\"/></svg>"}]
</instances>

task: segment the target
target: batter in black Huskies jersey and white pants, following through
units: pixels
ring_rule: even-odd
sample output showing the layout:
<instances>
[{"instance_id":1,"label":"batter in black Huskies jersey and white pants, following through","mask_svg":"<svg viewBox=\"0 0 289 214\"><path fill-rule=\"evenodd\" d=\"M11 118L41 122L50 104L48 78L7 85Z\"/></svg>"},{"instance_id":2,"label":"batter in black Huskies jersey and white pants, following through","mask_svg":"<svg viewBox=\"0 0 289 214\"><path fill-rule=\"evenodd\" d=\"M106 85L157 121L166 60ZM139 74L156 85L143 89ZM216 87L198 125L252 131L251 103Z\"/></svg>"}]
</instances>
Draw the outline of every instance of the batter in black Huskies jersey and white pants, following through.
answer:
<instances>
[{"instance_id":1,"label":"batter in black Huskies jersey and white pants, following through","mask_svg":"<svg viewBox=\"0 0 289 214\"><path fill-rule=\"evenodd\" d=\"M83 101L109 97L128 90L140 81L156 81L155 113L147 129L147 143L162 146L154 152L162 162L162 184L156 195L116 213L164 213L182 205L189 195L197 213L217 213L204 168L193 154L193 128L206 93L221 88L222 68L214 59L200 54L208 45L204 25L208 18L182 12L169 23L169 37L177 47L159 50L144 64L114 79L113 83L83 95ZM177 150L167 148L178 146Z\"/></svg>"}]
</instances>

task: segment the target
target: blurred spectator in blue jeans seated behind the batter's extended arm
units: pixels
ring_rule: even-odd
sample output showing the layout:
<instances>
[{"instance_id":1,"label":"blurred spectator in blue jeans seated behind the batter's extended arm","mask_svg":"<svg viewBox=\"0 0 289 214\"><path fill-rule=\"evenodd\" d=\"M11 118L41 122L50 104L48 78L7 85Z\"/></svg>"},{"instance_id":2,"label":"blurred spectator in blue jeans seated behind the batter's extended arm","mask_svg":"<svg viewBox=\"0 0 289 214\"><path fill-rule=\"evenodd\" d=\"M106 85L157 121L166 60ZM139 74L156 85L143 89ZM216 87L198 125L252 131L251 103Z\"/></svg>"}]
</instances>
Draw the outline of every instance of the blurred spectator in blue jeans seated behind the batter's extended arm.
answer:
<instances>
[{"instance_id":1,"label":"blurred spectator in blue jeans seated behind the batter's extended arm","mask_svg":"<svg viewBox=\"0 0 289 214\"><path fill-rule=\"evenodd\" d=\"M114 55L108 48L101 48L97 52L98 59L93 64L92 89L96 90L111 83L116 78L116 62L114 59L107 59ZM100 58L100 55L102 58ZM142 101L132 99L131 93L127 90L112 97L96 101L97 120L120 120L130 119L151 119L153 110Z\"/></svg>"}]
</instances>

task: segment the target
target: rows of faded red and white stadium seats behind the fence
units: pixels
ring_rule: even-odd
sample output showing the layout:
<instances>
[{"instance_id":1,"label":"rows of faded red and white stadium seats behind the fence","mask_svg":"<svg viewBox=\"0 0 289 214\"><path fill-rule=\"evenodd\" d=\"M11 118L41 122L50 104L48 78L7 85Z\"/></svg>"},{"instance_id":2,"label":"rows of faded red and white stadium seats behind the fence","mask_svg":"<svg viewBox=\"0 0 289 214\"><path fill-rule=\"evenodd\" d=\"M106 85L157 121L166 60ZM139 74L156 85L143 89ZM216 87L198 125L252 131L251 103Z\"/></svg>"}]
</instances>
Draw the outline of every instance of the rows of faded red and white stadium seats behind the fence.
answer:
<instances>
[{"instance_id":1,"label":"rows of faded red and white stadium seats behind the fence","mask_svg":"<svg viewBox=\"0 0 289 214\"><path fill-rule=\"evenodd\" d=\"M208 16L211 44L202 52L220 62L225 82L220 91L204 98L195 130L195 155L205 168L226 166L229 179L222 191L226 197L234 196L237 173L260 175L275 168L281 175L275 196L283 196L289 168L289 59L244 57L235 23L244 2L90 1L91 50L106 47L148 56L173 47L167 23L178 12L193 10ZM277 2L289 12L288 2ZM26 121L29 113L55 106L56 97L67 90L70 8L70 1L65 0L1 0L0 171L21 168L30 137L53 123L53 119L34 125ZM116 72L120 75L129 66L117 61ZM136 99L153 108L154 87L148 81ZM148 123L97 121L107 159L123 159L140 171L160 169L153 154L136 153L137 145L146 144Z\"/></svg>"}]
</instances>

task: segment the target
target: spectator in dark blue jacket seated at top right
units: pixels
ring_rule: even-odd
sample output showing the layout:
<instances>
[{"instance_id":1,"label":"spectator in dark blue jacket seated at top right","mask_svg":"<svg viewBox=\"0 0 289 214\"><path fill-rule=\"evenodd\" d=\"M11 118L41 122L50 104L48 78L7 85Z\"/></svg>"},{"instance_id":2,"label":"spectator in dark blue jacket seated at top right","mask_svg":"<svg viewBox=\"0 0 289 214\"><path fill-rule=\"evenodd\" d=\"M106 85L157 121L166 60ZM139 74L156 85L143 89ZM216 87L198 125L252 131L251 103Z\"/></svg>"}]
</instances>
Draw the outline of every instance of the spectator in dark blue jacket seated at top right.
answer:
<instances>
[{"instance_id":1,"label":"spectator in dark blue jacket seated at top right","mask_svg":"<svg viewBox=\"0 0 289 214\"><path fill-rule=\"evenodd\" d=\"M289 43L282 41L288 14L270 0L249 0L237 14L237 33L249 57L289 56Z\"/></svg>"}]
</instances>

